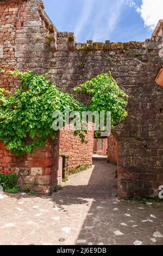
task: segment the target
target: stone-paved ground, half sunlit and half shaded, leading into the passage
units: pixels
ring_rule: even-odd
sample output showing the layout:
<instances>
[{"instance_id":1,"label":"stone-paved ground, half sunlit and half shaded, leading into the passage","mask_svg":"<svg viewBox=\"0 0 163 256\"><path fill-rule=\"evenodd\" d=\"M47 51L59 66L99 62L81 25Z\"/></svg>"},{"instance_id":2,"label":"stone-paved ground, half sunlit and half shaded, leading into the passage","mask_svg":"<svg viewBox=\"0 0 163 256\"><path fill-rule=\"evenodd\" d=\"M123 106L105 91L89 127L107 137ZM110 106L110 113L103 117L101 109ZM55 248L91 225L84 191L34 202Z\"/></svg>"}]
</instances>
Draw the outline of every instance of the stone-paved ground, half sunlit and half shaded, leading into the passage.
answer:
<instances>
[{"instance_id":1,"label":"stone-paved ground, half sunlit and half shaded, leading into the passage","mask_svg":"<svg viewBox=\"0 0 163 256\"><path fill-rule=\"evenodd\" d=\"M52 197L0 194L0 245L163 245L163 204L118 200L106 161Z\"/></svg>"}]
</instances>

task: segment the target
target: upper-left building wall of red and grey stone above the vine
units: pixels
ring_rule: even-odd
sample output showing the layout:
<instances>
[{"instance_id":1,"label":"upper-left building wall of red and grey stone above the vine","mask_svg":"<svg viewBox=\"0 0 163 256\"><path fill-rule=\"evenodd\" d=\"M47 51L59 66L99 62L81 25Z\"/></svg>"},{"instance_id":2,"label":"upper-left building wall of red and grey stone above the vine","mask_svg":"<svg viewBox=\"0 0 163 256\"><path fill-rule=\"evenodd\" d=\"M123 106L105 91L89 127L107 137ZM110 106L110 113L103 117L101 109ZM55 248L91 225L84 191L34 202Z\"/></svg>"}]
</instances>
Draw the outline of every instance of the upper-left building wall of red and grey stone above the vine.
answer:
<instances>
[{"instance_id":1,"label":"upper-left building wall of red and grey stone above the vine","mask_svg":"<svg viewBox=\"0 0 163 256\"><path fill-rule=\"evenodd\" d=\"M40 0L2 0L0 2L0 87L13 90L20 82L3 74L4 70L49 70L48 26L51 22ZM54 35L57 29L54 27Z\"/></svg>"}]
</instances>

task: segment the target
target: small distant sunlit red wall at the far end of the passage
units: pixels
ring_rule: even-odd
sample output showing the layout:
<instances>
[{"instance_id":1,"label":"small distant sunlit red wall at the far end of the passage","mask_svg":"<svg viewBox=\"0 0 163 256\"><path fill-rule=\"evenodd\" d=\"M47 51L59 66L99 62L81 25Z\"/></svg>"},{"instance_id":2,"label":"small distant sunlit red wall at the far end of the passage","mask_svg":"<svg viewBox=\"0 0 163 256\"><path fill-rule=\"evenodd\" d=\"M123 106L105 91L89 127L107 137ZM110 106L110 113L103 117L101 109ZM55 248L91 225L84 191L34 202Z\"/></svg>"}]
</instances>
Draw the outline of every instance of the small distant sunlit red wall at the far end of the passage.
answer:
<instances>
[{"instance_id":1,"label":"small distant sunlit red wall at the far end of the passage","mask_svg":"<svg viewBox=\"0 0 163 256\"><path fill-rule=\"evenodd\" d=\"M93 153L97 155L108 154L108 139L94 139L93 141Z\"/></svg>"}]
</instances>

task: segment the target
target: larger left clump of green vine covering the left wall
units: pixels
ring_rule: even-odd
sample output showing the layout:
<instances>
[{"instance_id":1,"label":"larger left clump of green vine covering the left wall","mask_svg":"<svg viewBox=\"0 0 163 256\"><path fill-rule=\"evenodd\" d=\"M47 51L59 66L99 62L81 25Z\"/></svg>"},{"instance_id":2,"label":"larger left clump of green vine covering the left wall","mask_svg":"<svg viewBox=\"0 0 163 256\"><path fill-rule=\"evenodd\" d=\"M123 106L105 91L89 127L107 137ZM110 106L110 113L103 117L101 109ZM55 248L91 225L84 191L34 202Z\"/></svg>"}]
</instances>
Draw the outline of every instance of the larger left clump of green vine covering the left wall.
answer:
<instances>
[{"instance_id":1,"label":"larger left clump of green vine covering the left wall","mask_svg":"<svg viewBox=\"0 0 163 256\"><path fill-rule=\"evenodd\" d=\"M11 74L22 79L22 86L14 94L0 89L0 140L7 149L22 155L42 147L49 136L55 138L54 111L64 112L64 107L80 111L83 106L42 75L21 71Z\"/></svg>"}]
</instances>

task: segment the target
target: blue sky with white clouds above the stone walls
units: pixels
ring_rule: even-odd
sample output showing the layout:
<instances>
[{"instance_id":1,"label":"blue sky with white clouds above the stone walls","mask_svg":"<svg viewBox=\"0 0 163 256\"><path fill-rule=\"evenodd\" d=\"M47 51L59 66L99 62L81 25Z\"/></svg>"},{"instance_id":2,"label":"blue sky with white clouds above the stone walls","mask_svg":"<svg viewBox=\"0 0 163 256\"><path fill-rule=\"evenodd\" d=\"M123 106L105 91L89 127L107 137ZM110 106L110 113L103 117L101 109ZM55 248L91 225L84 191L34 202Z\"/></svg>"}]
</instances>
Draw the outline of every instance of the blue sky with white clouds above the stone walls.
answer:
<instances>
[{"instance_id":1,"label":"blue sky with white clouds above the stone walls","mask_svg":"<svg viewBox=\"0 0 163 256\"><path fill-rule=\"evenodd\" d=\"M77 42L143 41L163 19L162 0L43 0L59 31Z\"/></svg>"}]
</instances>

